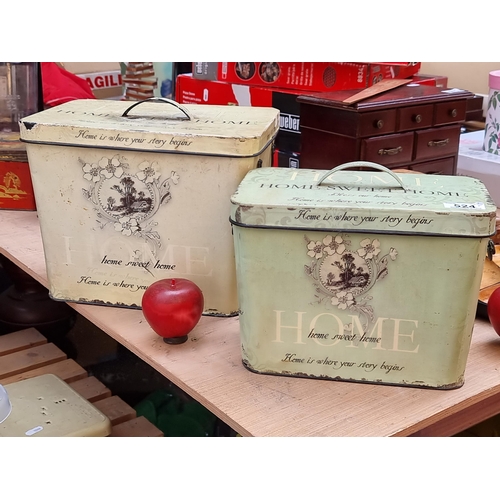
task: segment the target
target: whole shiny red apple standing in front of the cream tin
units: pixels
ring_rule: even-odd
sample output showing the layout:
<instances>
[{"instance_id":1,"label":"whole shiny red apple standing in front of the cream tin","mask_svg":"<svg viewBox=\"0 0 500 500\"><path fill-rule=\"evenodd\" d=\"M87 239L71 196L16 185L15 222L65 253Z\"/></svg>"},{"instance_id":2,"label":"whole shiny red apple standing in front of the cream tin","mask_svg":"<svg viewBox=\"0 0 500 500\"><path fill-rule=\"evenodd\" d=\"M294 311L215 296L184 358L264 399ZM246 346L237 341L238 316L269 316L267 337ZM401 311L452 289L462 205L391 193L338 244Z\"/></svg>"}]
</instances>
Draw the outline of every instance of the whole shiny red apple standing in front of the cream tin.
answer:
<instances>
[{"instance_id":1,"label":"whole shiny red apple standing in front of the cream tin","mask_svg":"<svg viewBox=\"0 0 500 500\"><path fill-rule=\"evenodd\" d=\"M184 278L155 281L142 296L146 321L167 344L186 342L188 333L200 321L203 307L202 291Z\"/></svg>"}]
</instances>

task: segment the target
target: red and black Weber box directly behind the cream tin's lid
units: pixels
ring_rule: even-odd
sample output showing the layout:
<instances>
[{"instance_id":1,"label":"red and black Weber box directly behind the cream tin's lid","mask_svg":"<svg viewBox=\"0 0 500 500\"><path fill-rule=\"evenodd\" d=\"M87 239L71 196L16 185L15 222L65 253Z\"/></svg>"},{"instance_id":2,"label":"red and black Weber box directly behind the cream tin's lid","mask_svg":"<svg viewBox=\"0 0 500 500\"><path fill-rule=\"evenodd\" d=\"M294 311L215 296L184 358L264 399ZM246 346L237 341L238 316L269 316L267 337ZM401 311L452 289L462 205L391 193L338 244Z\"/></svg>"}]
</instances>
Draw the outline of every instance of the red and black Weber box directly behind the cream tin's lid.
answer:
<instances>
[{"instance_id":1,"label":"red and black Weber box directly behind the cream tin's lid","mask_svg":"<svg viewBox=\"0 0 500 500\"><path fill-rule=\"evenodd\" d=\"M300 106L297 95L306 92L200 80L192 74L179 75L175 100L180 104L213 104L272 107L280 111L280 129L275 146L300 152Z\"/></svg>"}]
</instances>

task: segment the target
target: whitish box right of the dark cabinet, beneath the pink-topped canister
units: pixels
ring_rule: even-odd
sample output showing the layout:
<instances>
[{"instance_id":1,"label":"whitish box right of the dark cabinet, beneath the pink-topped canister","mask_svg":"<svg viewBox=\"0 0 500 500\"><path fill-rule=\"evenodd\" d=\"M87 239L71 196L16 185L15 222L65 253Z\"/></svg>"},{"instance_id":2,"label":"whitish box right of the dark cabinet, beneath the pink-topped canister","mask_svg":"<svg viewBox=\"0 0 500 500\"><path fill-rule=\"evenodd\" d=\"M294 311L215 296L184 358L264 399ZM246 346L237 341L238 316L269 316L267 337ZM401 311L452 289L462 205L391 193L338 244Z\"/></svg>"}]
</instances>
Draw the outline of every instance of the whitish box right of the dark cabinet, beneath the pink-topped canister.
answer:
<instances>
[{"instance_id":1,"label":"whitish box right of the dark cabinet, beneath the pink-topped canister","mask_svg":"<svg viewBox=\"0 0 500 500\"><path fill-rule=\"evenodd\" d=\"M484 130L462 134L458 148L457 175L479 179L500 207L500 156L483 149Z\"/></svg>"}]
</instances>

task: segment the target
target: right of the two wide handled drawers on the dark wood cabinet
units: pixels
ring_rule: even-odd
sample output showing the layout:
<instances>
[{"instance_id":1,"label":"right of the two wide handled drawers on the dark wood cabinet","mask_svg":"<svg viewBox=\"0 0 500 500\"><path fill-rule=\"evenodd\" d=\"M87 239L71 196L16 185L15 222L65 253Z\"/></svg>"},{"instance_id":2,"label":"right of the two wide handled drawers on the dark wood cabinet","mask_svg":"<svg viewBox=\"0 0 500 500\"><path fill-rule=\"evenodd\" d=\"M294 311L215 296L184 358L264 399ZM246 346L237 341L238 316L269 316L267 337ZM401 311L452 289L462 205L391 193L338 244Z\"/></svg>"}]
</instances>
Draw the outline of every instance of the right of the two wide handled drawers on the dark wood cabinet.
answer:
<instances>
[{"instance_id":1,"label":"right of the two wide handled drawers on the dark wood cabinet","mask_svg":"<svg viewBox=\"0 0 500 500\"><path fill-rule=\"evenodd\" d=\"M460 125L417 130L415 136L415 161L456 155Z\"/></svg>"}]
</instances>

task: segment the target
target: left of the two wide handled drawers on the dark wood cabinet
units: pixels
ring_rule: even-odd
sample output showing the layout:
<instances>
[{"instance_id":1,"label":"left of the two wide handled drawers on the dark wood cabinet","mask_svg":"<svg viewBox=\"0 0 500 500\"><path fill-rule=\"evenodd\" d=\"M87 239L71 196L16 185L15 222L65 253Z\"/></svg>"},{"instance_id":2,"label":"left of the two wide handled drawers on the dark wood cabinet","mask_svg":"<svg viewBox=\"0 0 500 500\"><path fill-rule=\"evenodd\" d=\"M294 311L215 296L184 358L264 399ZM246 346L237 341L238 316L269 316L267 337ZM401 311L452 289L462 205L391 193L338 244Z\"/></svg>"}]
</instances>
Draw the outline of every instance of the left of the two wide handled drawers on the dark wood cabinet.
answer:
<instances>
[{"instance_id":1,"label":"left of the two wide handled drawers on the dark wood cabinet","mask_svg":"<svg viewBox=\"0 0 500 500\"><path fill-rule=\"evenodd\" d=\"M410 162L413 154L413 132L363 139L361 159L382 165Z\"/></svg>"}]
</instances>

